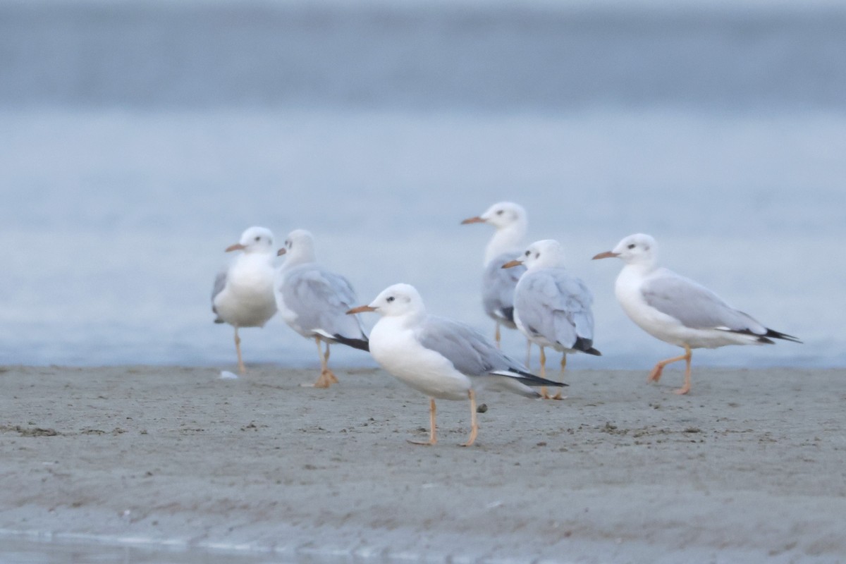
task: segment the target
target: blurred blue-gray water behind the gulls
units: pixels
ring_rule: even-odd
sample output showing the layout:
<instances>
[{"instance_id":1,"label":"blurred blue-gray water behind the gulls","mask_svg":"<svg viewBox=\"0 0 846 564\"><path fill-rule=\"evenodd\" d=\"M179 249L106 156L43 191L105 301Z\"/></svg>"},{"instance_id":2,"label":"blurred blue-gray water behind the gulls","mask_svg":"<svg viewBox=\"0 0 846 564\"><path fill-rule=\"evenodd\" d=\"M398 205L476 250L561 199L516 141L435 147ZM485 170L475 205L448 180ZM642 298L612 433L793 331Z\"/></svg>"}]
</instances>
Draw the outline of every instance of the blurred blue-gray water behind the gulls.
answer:
<instances>
[{"instance_id":1,"label":"blurred blue-gray water behind the gulls","mask_svg":"<svg viewBox=\"0 0 846 564\"><path fill-rule=\"evenodd\" d=\"M231 370L211 284L251 225L310 229L362 304L410 282L492 335L492 228L459 222L514 200L594 292L603 356L571 367L676 353L590 260L635 232L805 341L695 364L843 366L844 54L833 1L4 0L0 364ZM317 365L277 318L241 335Z\"/></svg>"}]
</instances>

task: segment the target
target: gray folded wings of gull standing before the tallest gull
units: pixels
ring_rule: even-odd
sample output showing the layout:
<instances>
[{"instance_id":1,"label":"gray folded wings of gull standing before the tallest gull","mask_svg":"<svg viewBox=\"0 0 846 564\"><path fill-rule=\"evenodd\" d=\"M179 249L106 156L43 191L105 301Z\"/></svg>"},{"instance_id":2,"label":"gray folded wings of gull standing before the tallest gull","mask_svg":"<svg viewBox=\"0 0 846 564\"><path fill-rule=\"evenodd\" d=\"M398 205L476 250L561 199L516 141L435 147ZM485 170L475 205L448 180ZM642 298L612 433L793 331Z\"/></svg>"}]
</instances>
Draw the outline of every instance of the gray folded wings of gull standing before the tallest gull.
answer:
<instances>
[{"instance_id":1,"label":"gray folded wings of gull standing before the tallest gull","mask_svg":"<svg viewBox=\"0 0 846 564\"><path fill-rule=\"evenodd\" d=\"M527 274L514 296L514 307L526 330L566 348L573 348L579 339L590 348L592 304L585 282L560 268Z\"/></svg>"}]
</instances>

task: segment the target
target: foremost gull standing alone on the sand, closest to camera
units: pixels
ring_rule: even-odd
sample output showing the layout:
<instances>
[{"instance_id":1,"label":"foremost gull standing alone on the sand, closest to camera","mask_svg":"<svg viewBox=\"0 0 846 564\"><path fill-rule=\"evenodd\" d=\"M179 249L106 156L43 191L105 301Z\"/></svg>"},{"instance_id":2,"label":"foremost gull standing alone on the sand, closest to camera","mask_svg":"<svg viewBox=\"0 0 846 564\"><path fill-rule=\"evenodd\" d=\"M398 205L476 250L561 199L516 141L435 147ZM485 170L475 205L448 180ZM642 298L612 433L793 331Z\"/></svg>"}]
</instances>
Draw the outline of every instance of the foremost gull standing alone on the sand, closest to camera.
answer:
<instances>
[{"instance_id":1,"label":"foremost gull standing alone on the sand, closest to camera","mask_svg":"<svg viewBox=\"0 0 846 564\"><path fill-rule=\"evenodd\" d=\"M369 305L349 314L376 311L382 317L371 331L371 354L383 369L429 397L429 441L437 443L436 399L470 400L470 446L479 432L475 390L501 389L525 397L540 397L529 386L567 386L530 374L469 325L427 315L415 287L394 284Z\"/></svg>"}]
</instances>

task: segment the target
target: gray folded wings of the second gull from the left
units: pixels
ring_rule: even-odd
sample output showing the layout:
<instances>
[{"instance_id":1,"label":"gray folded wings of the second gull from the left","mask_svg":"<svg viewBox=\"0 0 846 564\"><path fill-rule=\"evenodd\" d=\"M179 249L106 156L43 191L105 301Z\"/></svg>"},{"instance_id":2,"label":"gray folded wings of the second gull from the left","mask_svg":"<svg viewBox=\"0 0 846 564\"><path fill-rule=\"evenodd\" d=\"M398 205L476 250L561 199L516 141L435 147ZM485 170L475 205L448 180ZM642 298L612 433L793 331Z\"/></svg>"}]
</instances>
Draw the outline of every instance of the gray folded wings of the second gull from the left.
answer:
<instances>
[{"instance_id":1,"label":"gray folded wings of the second gull from the left","mask_svg":"<svg viewBox=\"0 0 846 564\"><path fill-rule=\"evenodd\" d=\"M282 285L285 305L297 315L297 324L329 335L366 338L357 315L347 315L358 299L349 281L310 263L288 271Z\"/></svg>"}]
</instances>

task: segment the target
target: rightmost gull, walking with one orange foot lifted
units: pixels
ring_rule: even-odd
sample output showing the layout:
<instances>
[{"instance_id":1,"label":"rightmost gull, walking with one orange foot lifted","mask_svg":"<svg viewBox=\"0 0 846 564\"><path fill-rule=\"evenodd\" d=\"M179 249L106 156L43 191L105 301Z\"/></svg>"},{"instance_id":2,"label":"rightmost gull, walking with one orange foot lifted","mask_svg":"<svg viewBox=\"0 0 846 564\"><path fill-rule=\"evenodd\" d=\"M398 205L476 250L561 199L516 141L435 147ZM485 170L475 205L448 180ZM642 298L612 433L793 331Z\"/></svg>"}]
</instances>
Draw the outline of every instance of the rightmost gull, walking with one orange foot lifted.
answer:
<instances>
[{"instance_id":1,"label":"rightmost gull, walking with one orange foot lifted","mask_svg":"<svg viewBox=\"0 0 846 564\"><path fill-rule=\"evenodd\" d=\"M614 284L614 293L626 315L652 337L684 348L681 356L656 364L647 381L659 381L667 364L685 360L684 386L675 392L686 394L690 391L693 348L772 345L772 339L801 342L762 326L699 283L659 268L657 251L654 238L637 233L624 238L613 250L593 257L623 260L625 265Z\"/></svg>"}]
</instances>

